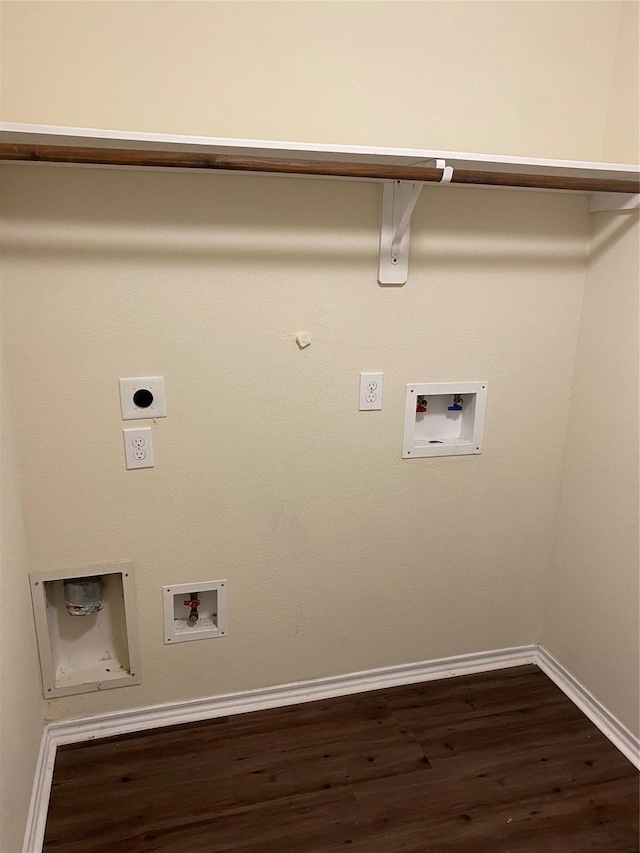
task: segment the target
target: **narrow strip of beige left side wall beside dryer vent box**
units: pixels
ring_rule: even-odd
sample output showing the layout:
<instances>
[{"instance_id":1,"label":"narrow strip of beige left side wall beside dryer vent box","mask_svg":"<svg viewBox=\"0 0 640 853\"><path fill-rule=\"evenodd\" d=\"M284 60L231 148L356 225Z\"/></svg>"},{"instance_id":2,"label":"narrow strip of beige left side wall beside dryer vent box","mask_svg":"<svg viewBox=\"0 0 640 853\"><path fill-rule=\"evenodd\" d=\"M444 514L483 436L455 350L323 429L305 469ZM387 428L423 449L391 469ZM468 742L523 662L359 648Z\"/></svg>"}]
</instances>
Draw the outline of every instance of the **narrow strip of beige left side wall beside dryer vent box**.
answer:
<instances>
[{"instance_id":1,"label":"narrow strip of beige left side wall beside dryer vent box","mask_svg":"<svg viewBox=\"0 0 640 853\"><path fill-rule=\"evenodd\" d=\"M44 701L27 581L25 531L6 370L0 372L0 850L18 853L29 808Z\"/></svg>"}]
</instances>

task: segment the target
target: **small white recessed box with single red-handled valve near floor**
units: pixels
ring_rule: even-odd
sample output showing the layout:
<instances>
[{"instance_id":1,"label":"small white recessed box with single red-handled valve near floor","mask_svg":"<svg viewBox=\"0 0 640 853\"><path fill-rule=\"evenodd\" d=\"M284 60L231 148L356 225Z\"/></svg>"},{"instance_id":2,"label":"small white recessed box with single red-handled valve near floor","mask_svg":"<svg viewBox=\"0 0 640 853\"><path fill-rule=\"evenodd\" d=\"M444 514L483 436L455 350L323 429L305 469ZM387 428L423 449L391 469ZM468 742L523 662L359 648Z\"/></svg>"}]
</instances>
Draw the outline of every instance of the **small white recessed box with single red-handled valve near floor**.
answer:
<instances>
[{"instance_id":1,"label":"small white recessed box with single red-handled valve near floor","mask_svg":"<svg viewBox=\"0 0 640 853\"><path fill-rule=\"evenodd\" d=\"M165 645L186 643L189 640L206 640L211 637L226 637L228 581L195 581L177 583L162 588L164 604ZM198 621L190 625L191 609L185 601L194 592L198 596Z\"/></svg>"}]
</instances>

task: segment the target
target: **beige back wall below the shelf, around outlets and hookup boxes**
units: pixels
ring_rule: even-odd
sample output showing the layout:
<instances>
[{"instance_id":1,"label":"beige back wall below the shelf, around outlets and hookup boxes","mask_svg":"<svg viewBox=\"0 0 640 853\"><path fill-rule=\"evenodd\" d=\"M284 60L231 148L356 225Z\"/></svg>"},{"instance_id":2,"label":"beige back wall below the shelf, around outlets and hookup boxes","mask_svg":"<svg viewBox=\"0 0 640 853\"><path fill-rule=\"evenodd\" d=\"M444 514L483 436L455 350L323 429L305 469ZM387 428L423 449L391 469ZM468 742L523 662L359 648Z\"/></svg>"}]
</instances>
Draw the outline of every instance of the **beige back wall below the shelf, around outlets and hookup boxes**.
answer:
<instances>
[{"instance_id":1,"label":"beige back wall below the shelf, around outlets and hookup boxes","mask_svg":"<svg viewBox=\"0 0 640 853\"><path fill-rule=\"evenodd\" d=\"M385 289L376 185L13 166L4 186L31 566L137 571L143 685L50 717L538 638L585 198L430 190ZM384 409L361 413L371 369ZM127 472L117 379L156 372L156 467ZM489 382L484 453L403 461L404 384L458 379ZM207 577L229 579L229 637L164 646L162 585Z\"/></svg>"}]
</instances>

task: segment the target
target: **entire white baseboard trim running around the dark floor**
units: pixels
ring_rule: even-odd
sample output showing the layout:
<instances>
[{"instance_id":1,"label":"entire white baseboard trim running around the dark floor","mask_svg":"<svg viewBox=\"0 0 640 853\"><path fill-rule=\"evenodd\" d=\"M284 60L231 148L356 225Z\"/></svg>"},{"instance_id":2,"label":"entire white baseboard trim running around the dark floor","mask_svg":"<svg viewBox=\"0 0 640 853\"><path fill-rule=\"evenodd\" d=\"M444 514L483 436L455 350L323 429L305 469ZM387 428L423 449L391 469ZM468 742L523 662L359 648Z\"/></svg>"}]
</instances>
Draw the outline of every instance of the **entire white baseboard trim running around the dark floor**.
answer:
<instances>
[{"instance_id":1,"label":"entire white baseboard trim running around the dark floor","mask_svg":"<svg viewBox=\"0 0 640 853\"><path fill-rule=\"evenodd\" d=\"M421 663L401 664L331 678L231 693L210 699L195 699L168 705L121 711L64 722L46 727L38 757L23 853L41 853L51 783L58 746L96 738L181 723L245 714L335 696L455 678L479 672L536 664L600 731L640 769L640 742L599 703L564 667L538 645L517 646L474 654L457 655Z\"/></svg>"}]
</instances>

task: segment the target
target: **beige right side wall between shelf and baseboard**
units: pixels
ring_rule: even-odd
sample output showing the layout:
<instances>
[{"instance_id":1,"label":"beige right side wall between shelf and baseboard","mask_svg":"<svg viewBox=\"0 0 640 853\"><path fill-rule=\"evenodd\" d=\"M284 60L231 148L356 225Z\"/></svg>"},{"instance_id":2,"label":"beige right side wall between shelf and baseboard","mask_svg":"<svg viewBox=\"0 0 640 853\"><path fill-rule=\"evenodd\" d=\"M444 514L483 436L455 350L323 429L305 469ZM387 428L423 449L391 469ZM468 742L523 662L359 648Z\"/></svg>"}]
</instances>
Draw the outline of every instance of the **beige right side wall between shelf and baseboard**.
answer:
<instances>
[{"instance_id":1,"label":"beige right side wall between shelf and baseboard","mask_svg":"<svg viewBox=\"0 0 640 853\"><path fill-rule=\"evenodd\" d=\"M543 645L636 734L638 216L593 219Z\"/></svg>"}]
</instances>

